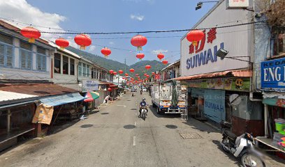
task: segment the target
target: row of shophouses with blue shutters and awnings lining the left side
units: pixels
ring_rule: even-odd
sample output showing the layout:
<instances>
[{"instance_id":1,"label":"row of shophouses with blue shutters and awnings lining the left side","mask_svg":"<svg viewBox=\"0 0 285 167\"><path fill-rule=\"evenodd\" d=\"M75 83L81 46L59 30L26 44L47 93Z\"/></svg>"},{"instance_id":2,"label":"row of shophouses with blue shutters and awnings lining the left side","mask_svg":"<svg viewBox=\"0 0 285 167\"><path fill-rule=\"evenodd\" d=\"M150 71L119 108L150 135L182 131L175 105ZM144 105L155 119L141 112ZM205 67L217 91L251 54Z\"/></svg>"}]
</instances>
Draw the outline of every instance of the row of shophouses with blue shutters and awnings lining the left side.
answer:
<instances>
[{"instance_id":1,"label":"row of shophouses with blue shutters and awnings lining the left side","mask_svg":"<svg viewBox=\"0 0 285 167\"><path fill-rule=\"evenodd\" d=\"M117 93L105 68L41 38L31 44L19 30L0 21L0 151L19 137L45 134L56 119L78 118ZM88 91L98 99L82 102ZM41 110L40 104L51 107Z\"/></svg>"}]
</instances>

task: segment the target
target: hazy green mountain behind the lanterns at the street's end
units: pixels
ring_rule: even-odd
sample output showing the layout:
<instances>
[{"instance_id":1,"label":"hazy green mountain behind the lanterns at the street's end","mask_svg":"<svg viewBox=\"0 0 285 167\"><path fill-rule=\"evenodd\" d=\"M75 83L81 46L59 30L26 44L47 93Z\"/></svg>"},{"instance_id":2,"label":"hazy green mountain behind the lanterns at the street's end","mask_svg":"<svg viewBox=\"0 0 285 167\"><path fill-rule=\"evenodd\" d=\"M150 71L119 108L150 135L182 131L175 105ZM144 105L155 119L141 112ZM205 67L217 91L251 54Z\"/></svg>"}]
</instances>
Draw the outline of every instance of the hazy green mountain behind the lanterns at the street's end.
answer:
<instances>
[{"instance_id":1,"label":"hazy green mountain behind the lanterns at the street's end","mask_svg":"<svg viewBox=\"0 0 285 167\"><path fill-rule=\"evenodd\" d=\"M67 47L66 49L74 52L75 54L78 54L79 56L88 59L89 61L92 61L96 65L104 67L107 70L114 70L116 72L118 70L124 70L125 67L124 63L119 63L118 61L113 61L108 58L103 58L102 56L98 56L95 54L90 54L87 51L82 51L80 49L76 49L75 47ZM152 68L146 70L145 65L151 65ZM135 63L133 65L126 65L127 71L124 73L128 73L130 77L135 77L135 74L139 74L141 78L145 78L143 77L143 74L147 73L149 74L149 76L151 76L152 72L159 71L163 69L163 67L166 67L166 65L163 65L163 63L159 61L139 61L138 63ZM129 72L131 68L135 70L134 73Z\"/></svg>"}]
</instances>

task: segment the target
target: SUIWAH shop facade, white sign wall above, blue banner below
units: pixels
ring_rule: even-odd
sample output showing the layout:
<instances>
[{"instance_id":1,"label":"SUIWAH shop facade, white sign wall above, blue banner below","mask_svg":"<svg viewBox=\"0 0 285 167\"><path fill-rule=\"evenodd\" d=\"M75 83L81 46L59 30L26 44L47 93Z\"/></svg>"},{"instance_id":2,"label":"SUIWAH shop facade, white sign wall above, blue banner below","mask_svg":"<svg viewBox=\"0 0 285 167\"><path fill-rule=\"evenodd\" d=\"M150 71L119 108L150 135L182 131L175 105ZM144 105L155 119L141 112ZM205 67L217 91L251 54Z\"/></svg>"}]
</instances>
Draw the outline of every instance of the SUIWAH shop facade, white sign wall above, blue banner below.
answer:
<instances>
[{"instance_id":1,"label":"SUIWAH shop facade, white sign wall above, blue banner below","mask_svg":"<svg viewBox=\"0 0 285 167\"><path fill-rule=\"evenodd\" d=\"M254 99L254 13L229 9L219 1L192 29L203 30L204 37L193 46L181 39L180 74L176 80L188 85L189 114L197 119L231 122L233 133L264 134L263 104ZM219 19L223 18L223 19ZM224 28L214 28L219 26ZM226 58L217 56L219 49L228 51Z\"/></svg>"}]
</instances>

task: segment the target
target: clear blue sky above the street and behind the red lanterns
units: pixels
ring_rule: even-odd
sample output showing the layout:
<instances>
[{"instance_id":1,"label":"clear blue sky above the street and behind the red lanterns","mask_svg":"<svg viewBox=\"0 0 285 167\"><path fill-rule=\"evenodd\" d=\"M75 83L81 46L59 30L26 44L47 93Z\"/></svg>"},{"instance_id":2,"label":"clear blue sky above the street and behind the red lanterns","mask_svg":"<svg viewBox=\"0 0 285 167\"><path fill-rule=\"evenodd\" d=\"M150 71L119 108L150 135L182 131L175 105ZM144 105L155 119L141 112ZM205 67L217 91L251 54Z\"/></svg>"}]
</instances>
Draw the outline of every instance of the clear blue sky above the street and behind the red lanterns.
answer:
<instances>
[{"instance_id":1,"label":"clear blue sky above the street and behind the red lanterns","mask_svg":"<svg viewBox=\"0 0 285 167\"><path fill-rule=\"evenodd\" d=\"M200 17L207 13L214 3L205 3L203 8L195 10L198 0L19 0L22 6L39 10L43 13L34 14L34 17L22 18L24 7L15 10L15 13L0 13L2 17L8 17L17 21L31 24L43 24L64 30L92 31L92 32L117 32L117 31L154 31L172 29L190 29L198 22ZM5 2L4 2L5 3ZM9 0L6 1L9 3ZM6 6L13 6L5 4ZM26 4L27 3L27 4ZM2 5L3 6L3 5ZM0 4L1 9L1 4ZM29 10L27 10L29 11ZM3 10L2 10L3 12ZM29 12L28 12L29 13ZM57 14L57 15L55 15ZM31 13L31 15L33 15ZM49 17L51 24L48 24ZM20 19L20 20L19 20ZM24 21L23 21L24 20ZM54 21L55 20L55 21ZM53 22L54 21L54 22ZM54 30L52 30L54 31ZM146 37L154 36L182 36L182 33L147 33ZM122 38L132 37L135 34L126 35L92 35L92 38ZM54 36L53 36L54 37ZM64 37L73 38L74 35ZM55 38L55 37L54 37ZM115 47L121 49L136 50L130 43L130 39L93 39L92 47L87 51L101 56L101 46ZM100 45L100 46L98 46ZM147 45L143 47L145 60L158 60L153 51L167 51L164 54L171 63L180 58L180 38L148 38ZM136 63L136 52L112 49L109 58L127 64Z\"/></svg>"}]
</instances>

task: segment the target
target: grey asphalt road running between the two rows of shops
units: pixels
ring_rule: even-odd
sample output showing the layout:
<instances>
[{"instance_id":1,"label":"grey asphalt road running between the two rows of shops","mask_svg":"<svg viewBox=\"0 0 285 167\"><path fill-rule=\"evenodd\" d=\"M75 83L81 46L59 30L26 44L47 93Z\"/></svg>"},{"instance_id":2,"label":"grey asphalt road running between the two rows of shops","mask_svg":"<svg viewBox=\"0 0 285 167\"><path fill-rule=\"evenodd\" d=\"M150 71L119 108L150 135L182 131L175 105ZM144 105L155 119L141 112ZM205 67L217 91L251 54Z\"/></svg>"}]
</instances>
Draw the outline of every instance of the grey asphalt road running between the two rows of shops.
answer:
<instances>
[{"instance_id":1,"label":"grey asphalt road running between the two rows of shops","mask_svg":"<svg viewBox=\"0 0 285 167\"><path fill-rule=\"evenodd\" d=\"M240 166L218 144L217 129L197 120L156 114L137 117L142 97L126 94L87 120L0 155L0 166ZM183 139L180 134L200 138ZM280 166L277 164L277 166Z\"/></svg>"}]
</instances>

